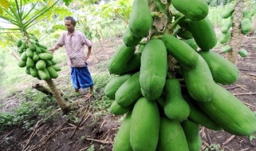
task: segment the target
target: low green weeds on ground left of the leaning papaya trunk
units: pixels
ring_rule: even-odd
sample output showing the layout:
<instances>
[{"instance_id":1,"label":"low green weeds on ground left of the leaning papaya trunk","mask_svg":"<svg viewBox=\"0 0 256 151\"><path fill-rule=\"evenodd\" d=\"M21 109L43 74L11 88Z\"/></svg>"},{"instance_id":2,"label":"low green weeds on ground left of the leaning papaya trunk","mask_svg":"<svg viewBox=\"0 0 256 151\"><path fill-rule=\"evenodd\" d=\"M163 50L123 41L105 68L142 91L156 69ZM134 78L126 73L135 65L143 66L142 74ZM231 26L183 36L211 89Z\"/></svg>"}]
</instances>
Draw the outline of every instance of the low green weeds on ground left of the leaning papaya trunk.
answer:
<instances>
[{"instance_id":1,"label":"low green weeds on ground left of the leaning papaya trunk","mask_svg":"<svg viewBox=\"0 0 256 151\"><path fill-rule=\"evenodd\" d=\"M53 97L31 89L26 89L18 97L21 100L20 106L13 108L12 112L0 112L0 130L11 126L21 126L22 129L29 130L35 124L37 116L41 116L43 120L52 118L49 115L55 108Z\"/></svg>"}]
</instances>

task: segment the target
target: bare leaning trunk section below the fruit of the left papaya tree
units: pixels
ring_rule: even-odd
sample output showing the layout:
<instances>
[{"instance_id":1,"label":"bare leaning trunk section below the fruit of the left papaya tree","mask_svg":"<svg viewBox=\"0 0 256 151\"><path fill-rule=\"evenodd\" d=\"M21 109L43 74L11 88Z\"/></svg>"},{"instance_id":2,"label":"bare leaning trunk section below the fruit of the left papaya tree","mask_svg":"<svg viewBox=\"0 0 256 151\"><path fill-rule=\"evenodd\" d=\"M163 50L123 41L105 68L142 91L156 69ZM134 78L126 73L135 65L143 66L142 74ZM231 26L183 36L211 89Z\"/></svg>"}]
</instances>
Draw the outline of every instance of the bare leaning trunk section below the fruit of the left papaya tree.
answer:
<instances>
[{"instance_id":1,"label":"bare leaning trunk section below the fruit of the left papaya tree","mask_svg":"<svg viewBox=\"0 0 256 151\"><path fill-rule=\"evenodd\" d=\"M48 84L49 88L52 91L53 96L55 97L58 105L61 107L61 110L64 114L67 114L70 111L70 107L67 105L67 103L64 101L63 97L61 96L61 93L56 88L55 84L53 83L52 79L46 80L46 83Z\"/></svg>"}]
</instances>

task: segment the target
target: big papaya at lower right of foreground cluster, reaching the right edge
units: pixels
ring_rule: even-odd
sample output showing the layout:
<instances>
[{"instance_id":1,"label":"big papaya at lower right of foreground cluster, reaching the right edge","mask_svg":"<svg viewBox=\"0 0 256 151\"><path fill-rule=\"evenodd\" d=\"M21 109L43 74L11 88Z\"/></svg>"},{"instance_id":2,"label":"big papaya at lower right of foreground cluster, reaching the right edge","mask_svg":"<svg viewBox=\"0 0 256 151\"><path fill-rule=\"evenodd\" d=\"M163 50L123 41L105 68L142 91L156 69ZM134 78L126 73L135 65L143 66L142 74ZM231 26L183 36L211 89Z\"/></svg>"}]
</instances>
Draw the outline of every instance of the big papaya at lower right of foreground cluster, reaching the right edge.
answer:
<instances>
[{"instance_id":1,"label":"big papaya at lower right of foreground cluster, reaching the right edge","mask_svg":"<svg viewBox=\"0 0 256 151\"><path fill-rule=\"evenodd\" d=\"M213 100L198 102L198 106L225 131L238 136L252 135L256 131L256 116L236 96L214 83Z\"/></svg>"}]
</instances>

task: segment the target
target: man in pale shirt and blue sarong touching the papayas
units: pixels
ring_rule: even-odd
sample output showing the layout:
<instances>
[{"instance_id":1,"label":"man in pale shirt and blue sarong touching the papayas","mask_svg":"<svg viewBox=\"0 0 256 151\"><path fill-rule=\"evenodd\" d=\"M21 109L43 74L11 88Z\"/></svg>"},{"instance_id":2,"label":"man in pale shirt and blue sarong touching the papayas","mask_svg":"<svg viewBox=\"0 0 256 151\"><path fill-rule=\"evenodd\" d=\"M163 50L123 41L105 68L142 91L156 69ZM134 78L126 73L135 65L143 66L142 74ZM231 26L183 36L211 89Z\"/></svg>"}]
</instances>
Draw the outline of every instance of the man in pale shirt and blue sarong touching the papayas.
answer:
<instances>
[{"instance_id":1,"label":"man in pale shirt and blue sarong touching the papayas","mask_svg":"<svg viewBox=\"0 0 256 151\"><path fill-rule=\"evenodd\" d=\"M65 45L68 65L71 67L71 79L75 88L75 93L79 94L79 89L90 88L86 97L91 97L93 92L93 81L88 71L86 61L91 54L91 42L83 33L75 30L75 20L71 16L64 19L67 31L61 34L55 47L48 49L52 53ZM88 47L87 55L84 56L84 45Z\"/></svg>"}]
</instances>

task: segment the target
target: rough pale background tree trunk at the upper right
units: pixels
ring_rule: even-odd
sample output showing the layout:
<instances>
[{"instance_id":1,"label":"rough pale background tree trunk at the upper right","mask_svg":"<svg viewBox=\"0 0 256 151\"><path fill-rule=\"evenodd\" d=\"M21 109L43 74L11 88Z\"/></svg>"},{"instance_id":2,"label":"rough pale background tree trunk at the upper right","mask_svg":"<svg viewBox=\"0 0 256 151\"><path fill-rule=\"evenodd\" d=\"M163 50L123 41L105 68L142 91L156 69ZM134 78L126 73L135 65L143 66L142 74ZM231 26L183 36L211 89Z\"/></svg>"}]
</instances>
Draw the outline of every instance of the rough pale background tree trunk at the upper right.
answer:
<instances>
[{"instance_id":1,"label":"rough pale background tree trunk at the upper right","mask_svg":"<svg viewBox=\"0 0 256 151\"><path fill-rule=\"evenodd\" d=\"M238 50L240 49L242 40L243 40L243 35L241 33L243 5L244 5L244 0L237 0L235 11L233 13L234 19L233 19L233 26L232 26L232 33L231 33L231 40L230 40L232 50L227 53L227 59L232 63L236 63Z\"/></svg>"}]
</instances>

